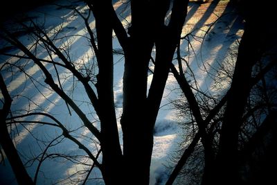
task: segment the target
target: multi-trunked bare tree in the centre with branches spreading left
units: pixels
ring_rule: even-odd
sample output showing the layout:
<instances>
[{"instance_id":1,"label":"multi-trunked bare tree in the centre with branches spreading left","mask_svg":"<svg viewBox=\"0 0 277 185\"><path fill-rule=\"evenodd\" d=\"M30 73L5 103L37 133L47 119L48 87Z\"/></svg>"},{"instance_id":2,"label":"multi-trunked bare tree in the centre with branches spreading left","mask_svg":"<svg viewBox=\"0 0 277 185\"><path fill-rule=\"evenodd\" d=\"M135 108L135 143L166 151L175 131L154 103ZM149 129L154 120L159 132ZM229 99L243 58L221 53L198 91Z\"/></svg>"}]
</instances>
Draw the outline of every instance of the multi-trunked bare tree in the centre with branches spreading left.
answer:
<instances>
[{"instance_id":1,"label":"multi-trunked bare tree in the centre with branches spreading left","mask_svg":"<svg viewBox=\"0 0 277 185\"><path fill-rule=\"evenodd\" d=\"M22 124L24 121L20 118L26 116L32 118L35 114L40 114L52 121L29 122L52 125L62 130L62 134L48 141L45 149L37 155L39 159L37 173L44 159L53 156L62 157L62 155L55 153L49 155L47 150L60 143L61 138L66 138L73 141L93 161L91 168L96 166L100 170L105 184L149 184L154 123L159 112L170 64L186 19L188 1L128 2L127 5L131 6L132 15L132 25L127 28L129 35L118 19L111 1L86 1L86 3L89 7L89 15L90 11L93 13L95 28L89 24L89 17L82 15L82 12L78 12L77 8L75 10L84 19L93 58L97 60L97 75L89 71L87 68L89 66L86 64L76 64L71 60L71 40L67 35L60 36L59 33L62 33L62 28L50 33L33 20L28 21L27 24L19 22L21 29L25 30L25 33L28 33L30 38L34 40L33 44L28 46L21 42L20 37L12 33L12 30L5 27L1 29L1 38L22 52L17 55L8 53L6 49L3 49L1 54L33 61L33 64L39 67L46 88L50 88L51 91L60 96L68 106L69 112L71 112L70 109L73 109L83 126L93 134L100 146L101 162L98 161L99 153L93 154L87 146L76 139L73 130L69 130L63 123L49 114L30 111L19 116L10 114L6 120L10 120L10 124ZM172 6L170 6L171 3ZM165 17L170 8L170 21L165 24ZM149 19L149 17L152 18ZM123 131L123 151L120 148L114 106L113 30L125 55L123 113L120 118ZM165 35L167 36L165 37ZM65 45L60 44L62 40L66 40ZM148 65L154 47L156 49L155 69L147 94ZM46 51L48 59L39 57L40 53L37 51L40 49ZM22 64L21 67L26 65L28 64ZM13 67L9 62L6 62L5 66ZM21 71L26 71L26 69L22 70L21 67L19 67ZM66 70L82 85L86 96L89 98L89 103L98 116L100 130L93 125L93 122L82 112L75 100L64 90L62 76L59 73L60 69ZM90 171L88 170L86 173ZM37 173L33 179L34 182L37 182Z\"/></svg>"}]
</instances>

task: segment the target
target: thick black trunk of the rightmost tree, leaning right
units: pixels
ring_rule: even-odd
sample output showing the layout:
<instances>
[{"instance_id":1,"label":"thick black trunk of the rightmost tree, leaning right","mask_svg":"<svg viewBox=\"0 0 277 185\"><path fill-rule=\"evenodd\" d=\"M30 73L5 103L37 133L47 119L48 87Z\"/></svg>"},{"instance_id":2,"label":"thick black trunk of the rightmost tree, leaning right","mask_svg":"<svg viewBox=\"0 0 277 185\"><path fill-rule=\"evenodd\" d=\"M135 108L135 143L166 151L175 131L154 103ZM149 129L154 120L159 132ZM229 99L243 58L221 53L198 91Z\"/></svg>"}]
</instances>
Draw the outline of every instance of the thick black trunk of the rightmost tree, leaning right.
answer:
<instances>
[{"instance_id":1,"label":"thick black trunk of the rightmost tree, leaning right","mask_svg":"<svg viewBox=\"0 0 277 185\"><path fill-rule=\"evenodd\" d=\"M276 40L273 30L272 11L268 4L255 4L249 8L242 1L245 18L244 34L238 49L233 80L229 89L226 109L220 131L220 146L215 159L215 165L205 170L202 184L240 184L240 161L238 157L238 134L243 123L242 117L247 104L247 98L253 85L252 68L261 60L262 54L270 49L272 40ZM269 36L273 36L272 38Z\"/></svg>"}]
</instances>

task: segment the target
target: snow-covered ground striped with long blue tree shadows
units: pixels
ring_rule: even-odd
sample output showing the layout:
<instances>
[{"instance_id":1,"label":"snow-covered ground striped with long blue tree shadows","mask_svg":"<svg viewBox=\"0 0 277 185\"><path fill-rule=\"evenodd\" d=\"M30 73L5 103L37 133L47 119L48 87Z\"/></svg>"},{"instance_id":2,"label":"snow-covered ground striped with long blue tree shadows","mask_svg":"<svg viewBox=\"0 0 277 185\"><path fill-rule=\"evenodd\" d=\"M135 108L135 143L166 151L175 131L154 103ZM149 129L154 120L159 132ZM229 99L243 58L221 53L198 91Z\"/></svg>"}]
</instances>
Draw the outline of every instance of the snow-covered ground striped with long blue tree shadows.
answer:
<instances>
[{"instance_id":1,"label":"snow-covered ground striped with long blue tree shadows","mask_svg":"<svg viewBox=\"0 0 277 185\"><path fill-rule=\"evenodd\" d=\"M83 15L88 15L87 7L80 1L66 1L59 0L56 2L61 5L74 4L78 6L78 10ZM191 33L187 38L190 39L188 44L187 39L181 42L181 55L186 58L190 64L190 69L195 72L195 78L199 83L199 88L204 91L211 91L213 80L211 76L215 73L214 69L218 67L220 61L226 58L228 49L235 43L236 39L240 39L242 35L242 20L238 17L231 7L226 7L228 1L206 1L205 3L196 3L191 1L188 8L188 17L182 36ZM126 8L121 1L115 1L114 8L120 14L123 24L129 24L129 9ZM93 52L89 49L89 42L85 35L87 31L84 29L84 21L78 17L74 10L68 8L61 8L56 5L40 6L33 11L28 12L28 17L32 17L38 24L44 24L44 28L48 30L49 36L53 36L57 30L60 30L60 36L66 39L60 39L56 42L57 46L67 47L70 45L71 61L76 66L86 66L93 71L93 66L89 65L92 62L91 56ZM21 20L22 21L22 20ZM90 25L93 26L93 18L89 19ZM8 24L7 24L8 25ZM8 25L12 27L13 25ZM30 46L32 39L26 37L26 33L21 34L21 42L26 46ZM51 35L52 34L52 35ZM69 39L68 39L69 38ZM204 38L204 39L203 39ZM1 45L6 46L5 42L1 41ZM37 47L37 56L39 58L48 59L48 54L42 46ZM120 49L117 39L114 39L114 49ZM21 54L17 49L10 48L9 52L13 54ZM26 63L24 69L26 74L19 73L19 71L10 71L8 65L1 69L1 73L8 85L8 90L13 97L12 111L15 114L21 109L44 110L53 114L59 121L64 123L69 130L75 130L73 134L82 134L82 141L86 146L94 151L96 154L99 149L98 143L93 143L92 136L81 126L82 121L78 116L72 113L69 115L64 101L53 93L51 89L44 87L42 73L38 67L27 60L17 60L8 56L0 55L0 67L3 67L5 62L21 65ZM58 58L53 58L58 60ZM46 67L54 71L45 64ZM120 129L119 118L122 111L122 77L123 77L124 60L122 55L114 55L114 96L116 103L116 114L118 116L118 127ZM97 116L93 112L91 105L89 105L88 98L82 93L84 89L68 71L64 69L57 69L62 80L62 87L64 91L78 103L78 106L88 116L90 120L96 120ZM56 76L53 73L53 76ZM149 76L151 82L152 75ZM57 80L57 79L55 79ZM168 175L168 168L164 165L168 164L170 155L177 149L177 143L181 141L182 130L179 126L175 110L172 109L170 101L179 98L180 91L177 89L178 85L175 78L170 74L168 83L163 94L161 109L157 118L157 124L154 128L154 149L152 155L151 177L150 184L164 184L166 175ZM17 96L19 95L19 96ZM0 98L3 96L0 94ZM42 116L33 116L35 121L49 121ZM26 119L30 120L30 119ZM18 131L17 131L18 130ZM30 134L30 132L32 134ZM19 150L22 159L26 162L28 157L37 155L43 151L42 142L36 141L34 137L42 139L43 141L51 141L55 136L59 136L61 131L51 126L37 126L33 124L26 124L25 128L22 126L12 125L12 136L15 138L14 142ZM121 134L120 137L122 138ZM49 148L49 153L66 153L70 155L84 155L71 141L62 140L58 147ZM85 164L91 163L86 158L80 158L84 164L74 164L64 159L47 160L42 164L38 176L37 184L68 184L69 181L59 182L66 176L72 175L76 170L87 169ZM30 164L30 163L28 163ZM34 177L37 168L37 161L27 168L31 177ZM15 184L8 161L5 160L5 166L0 165L0 184ZM80 175L81 176L81 175ZM100 177L97 170L91 173L91 177ZM74 177L73 177L74 179ZM88 184L101 184L101 180L95 179L88 182Z\"/></svg>"}]
</instances>

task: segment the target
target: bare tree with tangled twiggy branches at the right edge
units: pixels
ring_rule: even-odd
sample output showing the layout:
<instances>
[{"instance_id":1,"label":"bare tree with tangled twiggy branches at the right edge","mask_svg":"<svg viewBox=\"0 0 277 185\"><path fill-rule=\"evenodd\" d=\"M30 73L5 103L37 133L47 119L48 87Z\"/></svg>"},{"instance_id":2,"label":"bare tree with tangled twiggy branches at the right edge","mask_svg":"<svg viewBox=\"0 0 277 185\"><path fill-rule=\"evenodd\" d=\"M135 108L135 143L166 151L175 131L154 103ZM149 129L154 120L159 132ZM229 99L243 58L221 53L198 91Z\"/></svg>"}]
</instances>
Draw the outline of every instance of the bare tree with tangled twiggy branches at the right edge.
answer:
<instances>
[{"instance_id":1,"label":"bare tree with tangled twiggy branches at the right edge","mask_svg":"<svg viewBox=\"0 0 277 185\"><path fill-rule=\"evenodd\" d=\"M244 9L245 7L247 3L242 2L240 8L244 10L246 23L238 53L235 54L235 62L232 62L235 66L229 64L231 70L226 70L226 67L221 65L223 68L217 71L221 73L221 77L224 74L223 80L231 82L225 95L208 98L210 95L205 91L195 90L193 84L186 79L188 74L182 71L181 60L186 60L180 55L177 56L179 71L172 65L172 73L186 96L186 101L183 105L177 103L177 108L183 112L188 124L188 139L185 141L191 143L186 146L167 184L174 182L186 162L193 157L197 142L201 142L204 154L204 172L200 173L203 175L202 184L253 183L259 177L249 175L249 171L256 170L253 168L267 168L261 167L261 164L249 166L247 161L253 160L257 163L257 160L265 160L268 156L265 150L269 150L275 142L270 135L275 132L273 125L276 124L276 117L273 114L276 109L276 88L271 89L273 86L269 84L276 81L273 75L276 70L276 45L272 42L276 40L276 31L271 28L271 24L276 21L271 19L272 11L267 5L262 5L267 12L262 11L260 15L256 14L260 10L258 6L250 10ZM263 27L257 28L257 22L263 22ZM220 83L222 79L213 80ZM262 143L258 142L258 138ZM249 146L251 152L247 149ZM258 146L264 146L266 149ZM259 159L256 156L258 150L263 153L258 155ZM245 152L250 159L246 159ZM195 163L199 163L199 160L201 158L197 157ZM262 181L255 183L258 182Z\"/></svg>"}]
</instances>

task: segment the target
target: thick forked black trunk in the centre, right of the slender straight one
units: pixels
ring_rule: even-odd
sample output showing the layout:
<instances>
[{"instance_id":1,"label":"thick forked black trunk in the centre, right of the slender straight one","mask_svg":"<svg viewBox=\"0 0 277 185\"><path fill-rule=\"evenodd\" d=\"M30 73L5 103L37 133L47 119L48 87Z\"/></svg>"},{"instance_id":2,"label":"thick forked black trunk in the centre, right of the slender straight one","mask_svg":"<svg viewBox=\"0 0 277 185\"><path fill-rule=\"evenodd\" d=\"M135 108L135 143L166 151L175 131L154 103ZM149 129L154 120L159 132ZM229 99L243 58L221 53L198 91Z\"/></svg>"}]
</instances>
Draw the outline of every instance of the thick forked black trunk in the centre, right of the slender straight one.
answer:
<instances>
[{"instance_id":1,"label":"thick forked black trunk in the centre, right of the slender straight one","mask_svg":"<svg viewBox=\"0 0 277 185\"><path fill-rule=\"evenodd\" d=\"M135 184L142 185L149 184L154 123L166 86L170 63L186 18L188 1L175 1L172 8L174 13L168 26L164 25L164 17L169 8L169 1L164 1L161 9L157 3L132 1L129 53L125 53L124 103L121 118L124 158L126 168L132 169L127 173L128 177L136 179ZM158 7L159 11L152 11ZM153 17L152 20L150 16ZM148 62L154 42L155 69L146 98Z\"/></svg>"}]
</instances>

